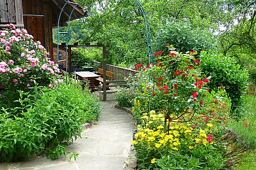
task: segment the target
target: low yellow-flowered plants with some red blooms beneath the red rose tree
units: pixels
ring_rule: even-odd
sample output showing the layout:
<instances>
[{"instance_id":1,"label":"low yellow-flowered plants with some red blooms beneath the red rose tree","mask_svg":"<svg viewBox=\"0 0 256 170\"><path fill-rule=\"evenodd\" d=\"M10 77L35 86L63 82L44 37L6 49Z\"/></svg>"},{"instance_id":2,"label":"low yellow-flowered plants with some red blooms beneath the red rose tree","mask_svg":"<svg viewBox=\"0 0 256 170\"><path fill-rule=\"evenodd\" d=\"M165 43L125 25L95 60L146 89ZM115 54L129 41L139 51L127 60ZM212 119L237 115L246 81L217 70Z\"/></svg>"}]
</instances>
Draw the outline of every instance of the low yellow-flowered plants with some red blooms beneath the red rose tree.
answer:
<instances>
[{"instance_id":1,"label":"low yellow-flowered plants with some red blooms beneath the red rose tree","mask_svg":"<svg viewBox=\"0 0 256 170\"><path fill-rule=\"evenodd\" d=\"M141 169L224 169L224 147L218 145L228 121L229 103L220 94L208 94L202 113L188 111L182 120L169 120L162 113L143 113L139 132L132 141ZM220 97L220 98L219 98ZM166 127L165 127L166 126ZM169 127L167 132L165 129ZM223 144L223 143L222 143Z\"/></svg>"}]
</instances>

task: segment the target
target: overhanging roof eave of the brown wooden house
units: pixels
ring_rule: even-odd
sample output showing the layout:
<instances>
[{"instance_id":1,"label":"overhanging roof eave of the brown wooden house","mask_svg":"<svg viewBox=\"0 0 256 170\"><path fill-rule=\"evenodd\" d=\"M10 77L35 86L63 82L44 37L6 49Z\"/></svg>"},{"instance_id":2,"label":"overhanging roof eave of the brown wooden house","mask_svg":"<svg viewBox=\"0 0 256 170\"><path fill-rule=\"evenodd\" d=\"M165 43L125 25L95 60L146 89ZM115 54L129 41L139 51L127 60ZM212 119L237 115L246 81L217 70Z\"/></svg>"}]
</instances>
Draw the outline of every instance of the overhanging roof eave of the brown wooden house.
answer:
<instances>
[{"instance_id":1,"label":"overhanging roof eave of the brown wooden house","mask_svg":"<svg viewBox=\"0 0 256 170\"><path fill-rule=\"evenodd\" d=\"M53 6L53 26L57 26L58 24L58 17L60 15L60 11L65 5L67 0L52 0L52 6ZM54 7L56 6L56 8ZM75 10L73 10L75 8ZM73 10L73 13L72 13ZM70 17L70 13L72 13L70 20L76 20L82 17L87 17L87 11L82 8L82 6L77 5L75 1L69 1L65 8L63 9L63 13L60 17L60 25L65 24L65 22L68 21L68 18Z\"/></svg>"}]
</instances>

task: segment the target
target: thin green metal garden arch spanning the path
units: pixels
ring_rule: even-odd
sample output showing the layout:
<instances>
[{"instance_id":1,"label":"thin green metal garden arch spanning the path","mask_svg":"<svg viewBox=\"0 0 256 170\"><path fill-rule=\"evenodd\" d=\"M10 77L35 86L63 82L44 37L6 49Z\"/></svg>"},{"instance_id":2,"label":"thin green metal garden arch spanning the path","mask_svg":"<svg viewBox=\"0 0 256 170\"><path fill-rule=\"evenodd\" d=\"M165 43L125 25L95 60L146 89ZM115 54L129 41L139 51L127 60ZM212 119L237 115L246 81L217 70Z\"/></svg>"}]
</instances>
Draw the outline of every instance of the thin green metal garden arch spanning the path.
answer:
<instances>
[{"instance_id":1,"label":"thin green metal garden arch spanning the path","mask_svg":"<svg viewBox=\"0 0 256 170\"><path fill-rule=\"evenodd\" d=\"M68 62L67 62L67 56L68 56L68 38L69 38L69 34L70 34L70 19L72 16L73 11L75 10L75 8L77 8L77 6L79 5L79 3L82 0L79 0L77 3L74 3L70 0L66 1L65 5L63 6L63 8L60 10L60 14L58 16L58 44L57 44L57 48L58 48L58 63L59 62L65 62L65 71L66 71L66 83L68 83ZM152 39L151 39L151 25L150 22L148 21L148 15L146 14L146 10L143 8L143 6L141 5L141 3L138 0L135 0L136 4L139 6L139 9L141 10L141 15L143 16L143 21L145 24L145 30L146 30L146 42L147 42L147 48L148 48L148 64L153 64L153 48L152 48ZM70 16L68 18L68 27L67 27L67 31L66 32L61 32L60 31L60 17L65 9L65 7L67 6L68 3L73 3L75 4L75 6L73 7ZM59 56L59 52L60 52L60 48L59 48L59 44L60 44L60 34L66 34L66 48L65 48L65 56L66 59L62 59L60 60L60 56ZM151 82L151 78L149 76L148 79L149 83ZM151 92L149 94L149 110L151 110Z\"/></svg>"}]
</instances>

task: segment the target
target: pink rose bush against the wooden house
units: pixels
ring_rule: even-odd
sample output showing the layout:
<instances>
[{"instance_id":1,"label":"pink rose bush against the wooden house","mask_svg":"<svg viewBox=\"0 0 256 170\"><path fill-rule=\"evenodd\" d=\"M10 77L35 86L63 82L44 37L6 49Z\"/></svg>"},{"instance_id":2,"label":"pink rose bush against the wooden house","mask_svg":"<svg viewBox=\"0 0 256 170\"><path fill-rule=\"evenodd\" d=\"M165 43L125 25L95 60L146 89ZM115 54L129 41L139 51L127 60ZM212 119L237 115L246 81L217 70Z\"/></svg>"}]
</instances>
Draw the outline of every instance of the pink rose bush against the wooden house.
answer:
<instances>
[{"instance_id":1,"label":"pink rose bush against the wooden house","mask_svg":"<svg viewBox=\"0 0 256 170\"><path fill-rule=\"evenodd\" d=\"M28 90L34 85L58 85L58 64L49 59L49 52L25 29L6 24L0 31L0 83L6 90Z\"/></svg>"}]
</instances>

